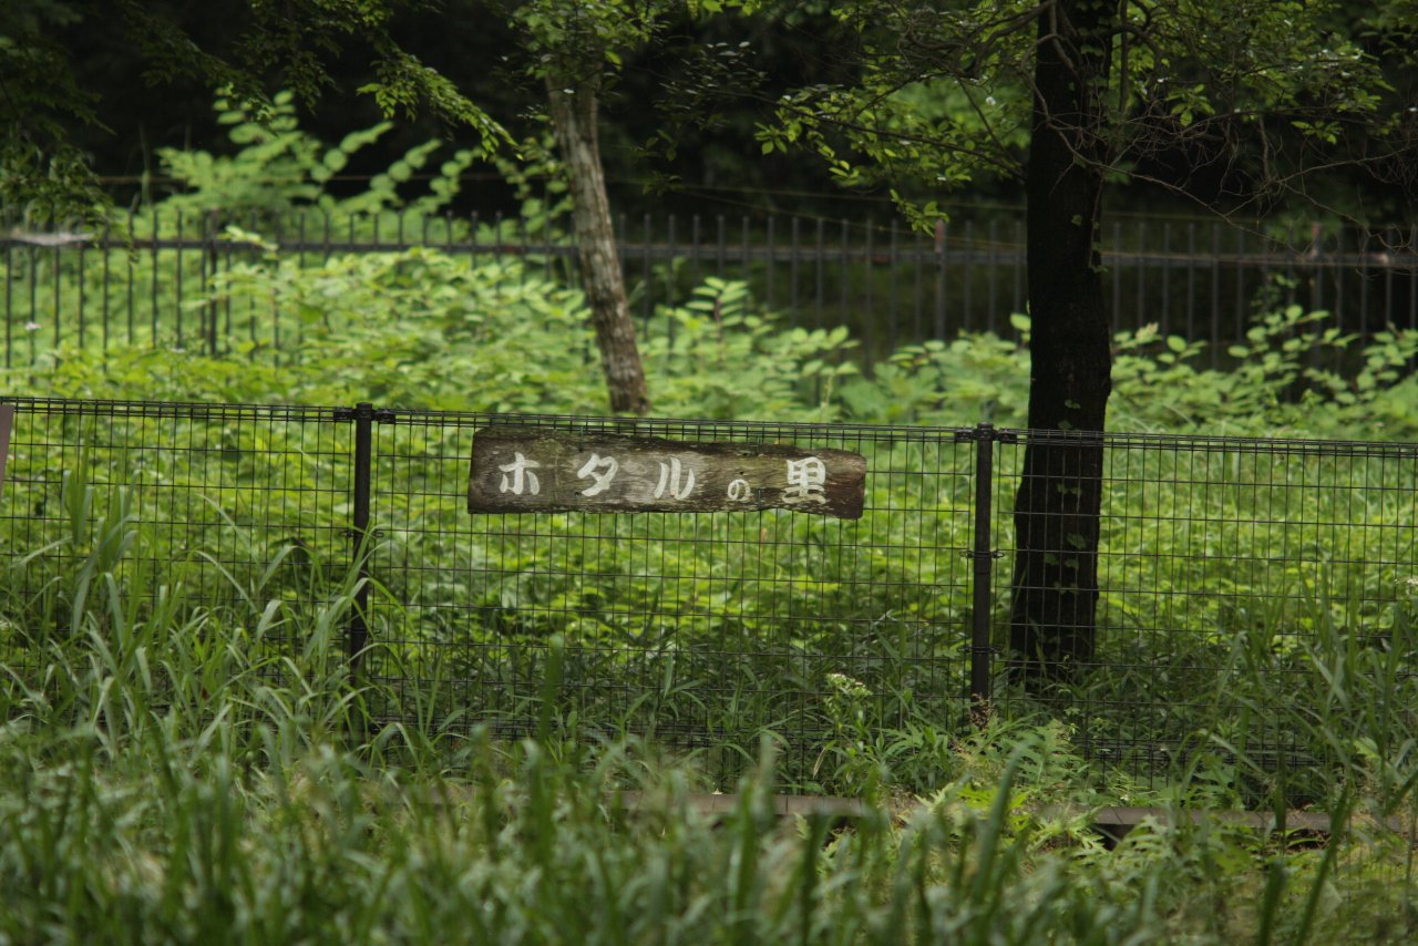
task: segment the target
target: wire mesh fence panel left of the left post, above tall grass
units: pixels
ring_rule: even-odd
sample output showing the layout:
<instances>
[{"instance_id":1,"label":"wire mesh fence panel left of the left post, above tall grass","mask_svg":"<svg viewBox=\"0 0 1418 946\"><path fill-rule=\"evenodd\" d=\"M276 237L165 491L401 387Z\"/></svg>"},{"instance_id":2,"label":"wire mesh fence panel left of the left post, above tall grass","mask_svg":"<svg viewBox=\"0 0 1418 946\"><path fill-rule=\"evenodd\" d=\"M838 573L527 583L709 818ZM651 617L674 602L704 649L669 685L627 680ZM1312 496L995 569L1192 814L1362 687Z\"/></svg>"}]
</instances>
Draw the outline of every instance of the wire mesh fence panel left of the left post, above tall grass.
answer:
<instances>
[{"instance_id":1,"label":"wire mesh fence panel left of the left post, above tall grass","mask_svg":"<svg viewBox=\"0 0 1418 946\"><path fill-rule=\"evenodd\" d=\"M23 401L0 529L6 661L37 669L47 640L81 633L69 591L112 570L146 608L204 608L254 627L271 601L328 606L350 547L340 411ZM174 600L176 599L176 600ZM301 641L275 623L272 657ZM272 667L274 669L274 667Z\"/></svg>"}]
</instances>

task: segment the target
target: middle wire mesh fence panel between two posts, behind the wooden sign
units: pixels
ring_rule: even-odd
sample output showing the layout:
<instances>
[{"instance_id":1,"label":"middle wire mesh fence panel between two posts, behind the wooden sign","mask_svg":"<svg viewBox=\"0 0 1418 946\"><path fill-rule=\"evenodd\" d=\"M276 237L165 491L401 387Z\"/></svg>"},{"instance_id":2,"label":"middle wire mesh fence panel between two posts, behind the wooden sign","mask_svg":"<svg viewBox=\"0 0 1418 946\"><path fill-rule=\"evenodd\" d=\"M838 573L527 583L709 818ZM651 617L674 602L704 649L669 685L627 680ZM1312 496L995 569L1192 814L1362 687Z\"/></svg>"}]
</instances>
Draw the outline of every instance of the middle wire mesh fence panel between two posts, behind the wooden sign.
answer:
<instances>
[{"instance_id":1,"label":"middle wire mesh fence panel between two posts, behind the wooden sign","mask_svg":"<svg viewBox=\"0 0 1418 946\"><path fill-rule=\"evenodd\" d=\"M830 736L830 674L865 682L900 719L910 694L964 705L960 557L968 451L951 431L522 418L542 430L859 451L876 471L859 521L786 511L495 513L462 505L476 430L495 416L404 413L374 437L367 669L444 678L447 705L523 732L553 635L563 698L583 720L706 753L787 736L808 772ZM474 715L468 716L469 719ZM732 749L730 749L732 750ZM730 764L715 759L712 769Z\"/></svg>"}]
</instances>

